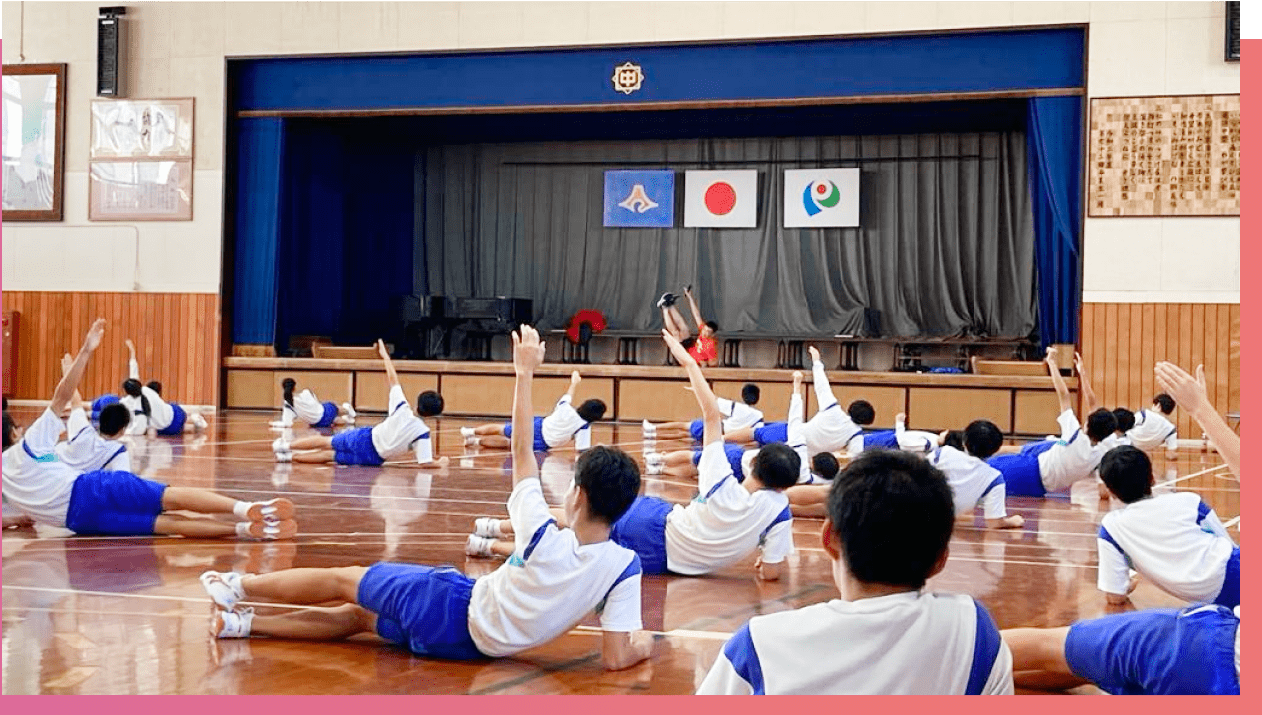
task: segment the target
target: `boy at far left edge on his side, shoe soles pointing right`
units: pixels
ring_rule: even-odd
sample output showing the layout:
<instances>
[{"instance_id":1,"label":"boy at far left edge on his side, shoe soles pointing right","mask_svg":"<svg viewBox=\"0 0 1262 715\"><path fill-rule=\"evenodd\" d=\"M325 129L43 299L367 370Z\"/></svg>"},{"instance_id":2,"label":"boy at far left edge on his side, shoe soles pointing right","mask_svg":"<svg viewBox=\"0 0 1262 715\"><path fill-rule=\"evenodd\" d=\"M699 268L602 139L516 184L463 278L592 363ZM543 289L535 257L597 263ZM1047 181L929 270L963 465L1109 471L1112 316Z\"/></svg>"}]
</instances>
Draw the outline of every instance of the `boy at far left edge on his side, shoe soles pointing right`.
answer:
<instances>
[{"instance_id":1,"label":"boy at far left edge on his side, shoe soles pointing right","mask_svg":"<svg viewBox=\"0 0 1262 715\"><path fill-rule=\"evenodd\" d=\"M57 458L66 425L58 416L101 344L105 320L92 324L83 347L57 383L44 412L25 433L4 414L4 501L38 523L93 536L169 533L194 537L292 538L298 532L289 499L239 502L206 489L168 487L130 472L88 472ZM239 523L170 512L236 516Z\"/></svg>"}]
</instances>

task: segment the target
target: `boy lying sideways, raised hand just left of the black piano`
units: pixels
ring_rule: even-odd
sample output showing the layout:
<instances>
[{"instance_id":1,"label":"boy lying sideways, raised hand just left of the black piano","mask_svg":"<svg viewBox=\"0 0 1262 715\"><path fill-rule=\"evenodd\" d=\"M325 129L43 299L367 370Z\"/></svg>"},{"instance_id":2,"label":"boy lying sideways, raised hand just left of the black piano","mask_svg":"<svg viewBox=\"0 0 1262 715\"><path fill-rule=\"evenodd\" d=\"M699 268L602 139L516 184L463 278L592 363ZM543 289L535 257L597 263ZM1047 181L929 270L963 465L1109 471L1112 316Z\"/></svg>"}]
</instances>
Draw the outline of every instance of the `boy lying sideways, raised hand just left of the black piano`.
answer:
<instances>
[{"instance_id":1,"label":"boy lying sideways, raised hand just left of the black piano","mask_svg":"<svg viewBox=\"0 0 1262 715\"><path fill-rule=\"evenodd\" d=\"M299 438L293 443L284 436L271 443L273 451L276 453L276 462L300 462L304 464L363 464L380 467L387 459L408 454L416 455L418 464L434 462L434 448L429 440L429 427L420 417L432 417L443 414L443 397L432 390L416 396L416 412L411 411L408 397L399 385L399 373L395 372L394 363L385 343L377 340L377 352L386 367L386 382L390 385L390 414L386 419L372 427L358 427L345 430L333 436L312 435ZM303 451L310 450L310 451ZM440 467L447 465L444 456L438 460Z\"/></svg>"}]
</instances>

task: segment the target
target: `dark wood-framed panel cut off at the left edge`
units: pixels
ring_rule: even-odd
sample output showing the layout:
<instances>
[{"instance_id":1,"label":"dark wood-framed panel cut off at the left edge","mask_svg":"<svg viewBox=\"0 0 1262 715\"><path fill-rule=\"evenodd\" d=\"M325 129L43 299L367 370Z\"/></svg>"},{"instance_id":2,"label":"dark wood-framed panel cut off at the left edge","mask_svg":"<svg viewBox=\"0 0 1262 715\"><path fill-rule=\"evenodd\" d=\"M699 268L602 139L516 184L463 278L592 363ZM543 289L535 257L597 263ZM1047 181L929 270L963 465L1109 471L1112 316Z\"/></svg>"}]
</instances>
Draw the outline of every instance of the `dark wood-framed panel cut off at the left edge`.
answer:
<instances>
[{"instance_id":1,"label":"dark wood-framed panel cut off at the left edge","mask_svg":"<svg viewBox=\"0 0 1262 715\"><path fill-rule=\"evenodd\" d=\"M61 221L66 64L4 66L4 221Z\"/></svg>"}]
</instances>

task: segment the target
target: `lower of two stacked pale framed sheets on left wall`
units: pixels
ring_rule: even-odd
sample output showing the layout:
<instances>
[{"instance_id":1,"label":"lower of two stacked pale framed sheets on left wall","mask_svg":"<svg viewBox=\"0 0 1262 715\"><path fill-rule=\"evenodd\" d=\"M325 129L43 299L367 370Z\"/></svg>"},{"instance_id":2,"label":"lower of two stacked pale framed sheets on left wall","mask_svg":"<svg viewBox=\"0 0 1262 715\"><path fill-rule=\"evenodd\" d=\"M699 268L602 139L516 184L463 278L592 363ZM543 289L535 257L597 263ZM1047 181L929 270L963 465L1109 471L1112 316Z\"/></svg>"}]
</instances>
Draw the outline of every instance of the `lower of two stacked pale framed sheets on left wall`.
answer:
<instances>
[{"instance_id":1,"label":"lower of two stacked pale framed sheets on left wall","mask_svg":"<svg viewBox=\"0 0 1262 715\"><path fill-rule=\"evenodd\" d=\"M92 161L88 221L192 221L193 163Z\"/></svg>"}]
</instances>

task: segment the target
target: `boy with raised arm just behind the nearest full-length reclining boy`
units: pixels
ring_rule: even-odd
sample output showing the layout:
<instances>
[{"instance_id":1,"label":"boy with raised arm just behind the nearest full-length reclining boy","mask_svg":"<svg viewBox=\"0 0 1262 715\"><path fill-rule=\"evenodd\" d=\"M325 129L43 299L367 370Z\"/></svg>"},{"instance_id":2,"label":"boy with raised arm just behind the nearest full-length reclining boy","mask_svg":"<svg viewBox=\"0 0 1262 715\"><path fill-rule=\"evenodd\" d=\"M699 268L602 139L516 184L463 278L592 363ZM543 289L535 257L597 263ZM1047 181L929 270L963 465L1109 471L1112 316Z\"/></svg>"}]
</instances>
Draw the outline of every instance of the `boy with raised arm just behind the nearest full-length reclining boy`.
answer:
<instances>
[{"instance_id":1,"label":"boy with raised arm just behind the nearest full-length reclining boy","mask_svg":"<svg viewBox=\"0 0 1262 715\"><path fill-rule=\"evenodd\" d=\"M705 419L700 496L688 506L639 497L613 525L610 538L635 550L646 574L699 576L761 549L755 564L758 578L779 579L785 557L793 552L793 517L784 489L798 482L798 454L787 445L767 445L755 458L752 473L743 483L737 480L723 453L722 415L709 383L673 334L663 330L663 339L688 371ZM466 550L471 556L505 556L512 542L504 540L524 537L516 530L511 521L480 518Z\"/></svg>"}]
</instances>

